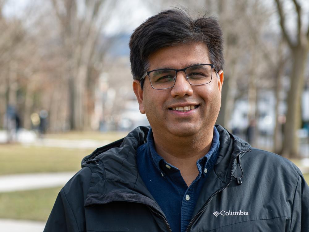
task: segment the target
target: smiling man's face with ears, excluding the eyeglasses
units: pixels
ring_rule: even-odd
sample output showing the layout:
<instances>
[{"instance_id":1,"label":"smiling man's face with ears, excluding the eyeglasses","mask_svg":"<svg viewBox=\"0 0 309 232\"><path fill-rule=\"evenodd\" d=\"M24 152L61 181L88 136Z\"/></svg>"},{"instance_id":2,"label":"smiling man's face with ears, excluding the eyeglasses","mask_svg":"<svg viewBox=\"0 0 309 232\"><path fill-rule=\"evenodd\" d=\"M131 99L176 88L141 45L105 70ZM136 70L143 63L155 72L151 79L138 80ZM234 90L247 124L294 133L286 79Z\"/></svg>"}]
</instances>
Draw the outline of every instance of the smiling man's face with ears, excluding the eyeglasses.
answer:
<instances>
[{"instance_id":1,"label":"smiling man's face with ears, excluding the eyeglasses","mask_svg":"<svg viewBox=\"0 0 309 232\"><path fill-rule=\"evenodd\" d=\"M150 55L149 64L148 71L162 68L183 69L211 62L206 45L192 43L159 49ZM219 76L218 79L213 69L209 84L193 86L186 79L185 73L180 71L174 87L163 90L153 89L148 76L143 90L139 81L134 80L133 89L140 112L146 113L154 135L202 136L207 131L212 134L221 105L222 71ZM180 107L193 109L182 112Z\"/></svg>"}]
</instances>

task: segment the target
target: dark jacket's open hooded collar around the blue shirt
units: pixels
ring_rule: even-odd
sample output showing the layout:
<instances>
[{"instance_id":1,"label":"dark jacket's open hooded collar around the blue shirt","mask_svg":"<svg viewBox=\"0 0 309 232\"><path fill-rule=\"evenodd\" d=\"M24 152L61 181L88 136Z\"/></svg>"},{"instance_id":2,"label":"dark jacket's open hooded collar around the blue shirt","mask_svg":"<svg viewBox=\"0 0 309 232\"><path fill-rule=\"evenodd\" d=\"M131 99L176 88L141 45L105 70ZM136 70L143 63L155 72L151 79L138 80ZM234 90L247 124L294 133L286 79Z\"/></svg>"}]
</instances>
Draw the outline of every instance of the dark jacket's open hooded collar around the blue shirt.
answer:
<instances>
[{"instance_id":1,"label":"dark jacket's open hooded collar around the blue shirt","mask_svg":"<svg viewBox=\"0 0 309 232\"><path fill-rule=\"evenodd\" d=\"M212 192L216 191L214 188L228 183L233 157L250 149L248 143L231 135L222 126L215 126L220 134L220 148L214 173L208 178L213 182L210 185L213 186ZM149 129L150 127L137 127L125 138L97 148L83 159L82 167L88 166L92 170L85 206L127 200L144 203L163 214L139 176L136 165L136 150L146 142ZM202 195L207 198L209 194L205 192ZM201 202L205 202L204 199Z\"/></svg>"}]
</instances>

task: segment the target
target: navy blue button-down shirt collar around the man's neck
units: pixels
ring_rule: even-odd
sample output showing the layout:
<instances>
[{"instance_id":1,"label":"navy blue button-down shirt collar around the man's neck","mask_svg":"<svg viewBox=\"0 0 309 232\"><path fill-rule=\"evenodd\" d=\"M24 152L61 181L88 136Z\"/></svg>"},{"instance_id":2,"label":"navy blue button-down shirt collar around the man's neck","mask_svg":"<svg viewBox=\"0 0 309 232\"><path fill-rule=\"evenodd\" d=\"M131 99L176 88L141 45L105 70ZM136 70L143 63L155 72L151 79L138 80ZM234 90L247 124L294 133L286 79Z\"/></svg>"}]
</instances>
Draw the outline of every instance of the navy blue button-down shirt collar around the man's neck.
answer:
<instances>
[{"instance_id":1,"label":"navy blue button-down shirt collar around the man's neck","mask_svg":"<svg viewBox=\"0 0 309 232\"><path fill-rule=\"evenodd\" d=\"M197 169L199 172L202 172L207 164L207 161L210 159L212 154L218 153L219 146L220 146L220 141L219 141L219 132L216 127L214 127L214 135L213 135L213 140L210 146L210 150L205 156L201 157L199 160L197 160ZM166 165L171 167L170 170L178 170L175 166L167 163L163 157L161 157L155 150L155 143L154 143L154 138L152 134L152 129L150 128L148 135L147 135L147 145L148 145L148 154L150 155L151 161L153 161L153 164L155 167L161 172L164 173L166 172ZM217 156L217 155L216 155Z\"/></svg>"}]
</instances>

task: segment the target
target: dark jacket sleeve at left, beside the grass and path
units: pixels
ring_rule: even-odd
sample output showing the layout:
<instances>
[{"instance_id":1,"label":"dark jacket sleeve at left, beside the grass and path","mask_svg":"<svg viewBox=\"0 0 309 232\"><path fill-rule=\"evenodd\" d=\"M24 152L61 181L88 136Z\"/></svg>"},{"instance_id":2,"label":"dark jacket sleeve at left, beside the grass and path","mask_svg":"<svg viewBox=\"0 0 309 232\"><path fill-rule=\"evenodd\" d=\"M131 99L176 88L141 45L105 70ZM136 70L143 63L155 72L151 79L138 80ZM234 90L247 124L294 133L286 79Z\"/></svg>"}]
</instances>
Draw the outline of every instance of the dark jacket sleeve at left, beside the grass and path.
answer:
<instances>
[{"instance_id":1,"label":"dark jacket sleeve at left, beside the grass and path","mask_svg":"<svg viewBox=\"0 0 309 232\"><path fill-rule=\"evenodd\" d=\"M91 169L82 168L59 192L44 232L78 232L86 226L84 203L91 181Z\"/></svg>"}]
</instances>

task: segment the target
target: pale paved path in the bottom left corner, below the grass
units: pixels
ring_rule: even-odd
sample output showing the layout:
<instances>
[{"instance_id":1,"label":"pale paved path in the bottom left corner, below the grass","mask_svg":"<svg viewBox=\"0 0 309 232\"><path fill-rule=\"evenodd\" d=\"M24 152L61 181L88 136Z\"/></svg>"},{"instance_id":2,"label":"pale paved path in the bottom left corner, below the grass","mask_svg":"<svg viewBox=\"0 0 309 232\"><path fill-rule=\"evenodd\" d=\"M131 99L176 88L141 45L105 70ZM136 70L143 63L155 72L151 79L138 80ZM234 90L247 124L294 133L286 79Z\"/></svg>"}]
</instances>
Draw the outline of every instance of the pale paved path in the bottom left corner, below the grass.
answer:
<instances>
[{"instance_id":1,"label":"pale paved path in the bottom left corner, below the grass","mask_svg":"<svg viewBox=\"0 0 309 232\"><path fill-rule=\"evenodd\" d=\"M42 232L45 222L0 219L1 232Z\"/></svg>"}]
</instances>

